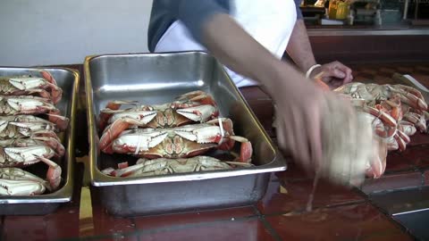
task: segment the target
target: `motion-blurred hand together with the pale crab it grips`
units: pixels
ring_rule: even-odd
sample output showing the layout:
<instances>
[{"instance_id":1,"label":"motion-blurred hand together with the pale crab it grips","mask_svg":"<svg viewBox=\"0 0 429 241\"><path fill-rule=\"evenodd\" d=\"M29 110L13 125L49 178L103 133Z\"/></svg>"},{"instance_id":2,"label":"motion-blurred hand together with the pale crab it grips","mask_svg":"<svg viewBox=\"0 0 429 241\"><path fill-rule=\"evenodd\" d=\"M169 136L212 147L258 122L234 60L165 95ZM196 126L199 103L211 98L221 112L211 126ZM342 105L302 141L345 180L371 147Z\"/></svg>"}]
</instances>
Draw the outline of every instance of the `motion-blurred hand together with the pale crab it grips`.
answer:
<instances>
[{"instance_id":1,"label":"motion-blurred hand together with the pale crab it grips","mask_svg":"<svg viewBox=\"0 0 429 241\"><path fill-rule=\"evenodd\" d=\"M267 75L267 80L276 83L271 95L279 148L310 176L360 184L366 163L378 152L371 141L371 125L347 99L296 75L289 66L277 73L274 79ZM291 77L298 81L287 81Z\"/></svg>"}]
</instances>

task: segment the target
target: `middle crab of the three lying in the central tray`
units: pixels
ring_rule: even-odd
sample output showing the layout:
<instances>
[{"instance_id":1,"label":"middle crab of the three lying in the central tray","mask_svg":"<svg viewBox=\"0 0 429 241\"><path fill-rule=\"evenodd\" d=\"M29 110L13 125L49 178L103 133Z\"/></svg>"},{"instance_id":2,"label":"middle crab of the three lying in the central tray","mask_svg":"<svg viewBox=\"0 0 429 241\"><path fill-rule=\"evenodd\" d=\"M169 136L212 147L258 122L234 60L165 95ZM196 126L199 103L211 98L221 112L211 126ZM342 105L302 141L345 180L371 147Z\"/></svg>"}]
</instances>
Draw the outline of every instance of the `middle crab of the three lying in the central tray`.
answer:
<instances>
[{"instance_id":1,"label":"middle crab of the three lying in the central tray","mask_svg":"<svg viewBox=\"0 0 429 241\"><path fill-rule=\"evenodd\" d=\"M233 136L230 119L211 120L203 124L174 129L130 129L114 139L106 153L134 154L149 159L183 158L204 154L209 149L231 150L235 140L242 143L240 161L248 162L252 154L250 142Z\"/></svg>"}]
</instances>

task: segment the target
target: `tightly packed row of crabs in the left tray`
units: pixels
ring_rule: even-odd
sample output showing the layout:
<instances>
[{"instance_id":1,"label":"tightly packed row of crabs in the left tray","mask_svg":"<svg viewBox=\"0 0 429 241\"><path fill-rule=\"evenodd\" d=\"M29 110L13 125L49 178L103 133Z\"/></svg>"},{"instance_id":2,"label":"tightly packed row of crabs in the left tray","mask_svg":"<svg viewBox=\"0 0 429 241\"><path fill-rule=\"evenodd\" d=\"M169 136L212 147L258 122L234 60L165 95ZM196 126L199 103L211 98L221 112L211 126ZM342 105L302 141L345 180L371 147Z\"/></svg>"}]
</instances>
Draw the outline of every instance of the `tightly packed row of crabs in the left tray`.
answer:
<instances>
[{"instance_id":1,"label":"tightly packed row of crabs in the left tray","mask_svg":"<svg viewBox=\"0 0 429 241\"><path fill-rule=\"evenodd\" d=\"M55 104L63 90L48 71L0 76L0 195L42 195L61 183L65 150L57 133L68 126ZM46 179L23 170L44 162Z\"/></svg>"}]
</instances>

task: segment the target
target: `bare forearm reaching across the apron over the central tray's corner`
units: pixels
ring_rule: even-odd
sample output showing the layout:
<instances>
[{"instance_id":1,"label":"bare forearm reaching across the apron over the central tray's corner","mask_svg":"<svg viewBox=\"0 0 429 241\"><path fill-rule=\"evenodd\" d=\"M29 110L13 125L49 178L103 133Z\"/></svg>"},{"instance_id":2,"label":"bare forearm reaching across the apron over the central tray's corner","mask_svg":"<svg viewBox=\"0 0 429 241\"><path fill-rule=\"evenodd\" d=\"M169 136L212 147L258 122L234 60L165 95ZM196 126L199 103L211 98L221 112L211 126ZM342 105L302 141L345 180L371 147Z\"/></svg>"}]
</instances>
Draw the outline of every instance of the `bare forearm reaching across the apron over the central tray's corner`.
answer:
<instances>
[{"instance_id":1,"label":"bare forearm reaching across the apron over the central tray's corner","mask_svg":"<svg viewBox=\"0 0 429 241\"><path fill-rule=\"evenodd\" d=\"M276 92L279 85L286 84L285 81L295 82L289 79L302 78L298 71L279 61L227 14L216 14L206 22L202 40L223 64L232 71L257 80L270 95ZM288 79L277 78L279 69L288 69Z\"/></svg>"}]
</instances>

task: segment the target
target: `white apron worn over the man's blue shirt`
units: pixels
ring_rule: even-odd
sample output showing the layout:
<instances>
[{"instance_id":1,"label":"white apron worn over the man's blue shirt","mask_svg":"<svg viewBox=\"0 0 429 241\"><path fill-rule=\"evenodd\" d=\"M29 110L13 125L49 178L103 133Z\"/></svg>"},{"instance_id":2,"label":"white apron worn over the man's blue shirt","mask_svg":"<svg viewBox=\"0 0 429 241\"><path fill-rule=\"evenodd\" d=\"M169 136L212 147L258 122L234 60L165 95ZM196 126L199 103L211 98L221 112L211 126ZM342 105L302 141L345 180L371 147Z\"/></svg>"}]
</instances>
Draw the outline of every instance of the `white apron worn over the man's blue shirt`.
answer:
<instances>
[{"instance_id":1,"label":"white apron worn over the man's blue shirt","mask_svg":"<svg viewBox=\"0 0 429 241\"><path fill-rule=\"evenodd\" d=\"M293 0L231 0L231 17L241 28L282 58L297 20ZM189 33L181 21L174 21L158 41L155 52L207 51ZM237 87L255 86L257 82L225 67Z\"/></svg>"}]
</instances>

